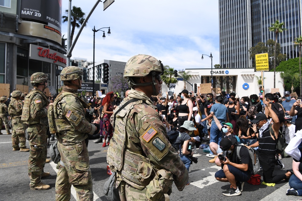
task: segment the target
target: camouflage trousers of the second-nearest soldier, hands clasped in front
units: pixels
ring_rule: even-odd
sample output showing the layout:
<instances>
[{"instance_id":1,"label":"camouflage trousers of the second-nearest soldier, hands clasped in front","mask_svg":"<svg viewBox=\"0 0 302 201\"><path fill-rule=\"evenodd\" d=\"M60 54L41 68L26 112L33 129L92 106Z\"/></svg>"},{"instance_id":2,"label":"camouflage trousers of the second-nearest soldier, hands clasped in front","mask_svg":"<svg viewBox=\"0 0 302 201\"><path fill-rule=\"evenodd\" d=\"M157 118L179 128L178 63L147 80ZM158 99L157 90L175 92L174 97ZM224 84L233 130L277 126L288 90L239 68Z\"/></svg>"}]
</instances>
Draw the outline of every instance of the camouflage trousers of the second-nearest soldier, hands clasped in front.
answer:
<instances>
[{"instance_id":1,"label":"camouflage trousers of the second-nearest soldier, hands clasped in front","mask_svg":"<svg viewBox=\"0 0 302 201\"><path fill-rule=\"evenodd\" d=\"M93 200L92 174L89 166L88 149L85 140L73 145L63 145L58 142L61 155L57 165L56 201L70 200L71 185L76 190L78 201Z\"/></svg>"}]
</instances>

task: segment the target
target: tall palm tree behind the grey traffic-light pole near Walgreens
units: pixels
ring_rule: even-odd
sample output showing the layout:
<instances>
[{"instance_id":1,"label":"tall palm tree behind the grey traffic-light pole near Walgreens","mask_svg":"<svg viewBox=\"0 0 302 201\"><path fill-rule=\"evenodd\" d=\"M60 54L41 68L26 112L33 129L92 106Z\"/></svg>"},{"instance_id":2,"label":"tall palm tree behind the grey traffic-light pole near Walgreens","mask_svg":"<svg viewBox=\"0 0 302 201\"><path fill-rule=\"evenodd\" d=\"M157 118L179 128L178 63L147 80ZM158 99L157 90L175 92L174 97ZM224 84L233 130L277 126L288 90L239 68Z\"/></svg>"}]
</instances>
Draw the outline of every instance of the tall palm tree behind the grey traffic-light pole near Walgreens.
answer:
<instances>
[{"instance_id":1,"label":"tall palm tree behind the grey traffic-light pole near Walgreens","mask_svg":"<svg viewBox=\"0 0 302 201\"><path fill-rule=\"evenodd\" d=\"M63 23L68 21L68 10L65 10L65 14L67 16L62 16ZM70 33L70 46L72 44L73 34L75 33L76 28L80 28L85 20L85 13L82 11L81 8L72 6L71 9L71 33ZM86 27L86 25L85 25Z\"/></svg>"}]
</instances>

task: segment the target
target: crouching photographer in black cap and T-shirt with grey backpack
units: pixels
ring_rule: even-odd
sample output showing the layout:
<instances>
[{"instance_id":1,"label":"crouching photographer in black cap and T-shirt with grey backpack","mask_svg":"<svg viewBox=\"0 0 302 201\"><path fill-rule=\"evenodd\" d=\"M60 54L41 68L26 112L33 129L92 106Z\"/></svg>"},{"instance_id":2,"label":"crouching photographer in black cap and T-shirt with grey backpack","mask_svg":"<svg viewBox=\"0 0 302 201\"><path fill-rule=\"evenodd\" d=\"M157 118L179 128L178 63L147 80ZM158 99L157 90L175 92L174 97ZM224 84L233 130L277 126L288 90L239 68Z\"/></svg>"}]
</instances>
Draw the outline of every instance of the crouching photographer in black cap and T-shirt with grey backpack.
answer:
<instances>
[{"instance_id":1,"label":"crouching photographer in black cap and T-shirt with grey backpack","mask_svg":"<svg viewBox=\"0 0 302 201\"><path fill-rule=\"evenodd\" d=\"M215 173L215 178L218 181L230 182L230 189L222 192L225 196L240 195L244 182L248 181L252 175L253 165L248 149L246 147L240 148L240 162L236 147L237 140L235 138L226 137L220 141L220 148L223 153L218 155L218 158L222 169Z\"/></svg>"}]
</instances>

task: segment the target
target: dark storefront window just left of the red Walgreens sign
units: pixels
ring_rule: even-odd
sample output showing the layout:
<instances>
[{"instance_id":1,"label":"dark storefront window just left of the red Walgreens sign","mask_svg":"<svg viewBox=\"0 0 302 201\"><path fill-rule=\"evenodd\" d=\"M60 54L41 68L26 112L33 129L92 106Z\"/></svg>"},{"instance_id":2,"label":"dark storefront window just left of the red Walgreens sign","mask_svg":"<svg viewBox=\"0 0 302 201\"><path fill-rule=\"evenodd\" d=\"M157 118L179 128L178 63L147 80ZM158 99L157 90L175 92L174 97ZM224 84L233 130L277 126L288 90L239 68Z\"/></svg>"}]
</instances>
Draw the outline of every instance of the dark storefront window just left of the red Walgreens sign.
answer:
<instances>
[{"instance_id":1,"label":"dark storefront window just left of the red Walgreens sign","mask_svg":"<svg viewBox=\"0 0 302 201\"><path fill-rule=\"evenodd\" d=\"M17 48L17 75L28 76L28 50Z\"/></svg>"}]
</instances>

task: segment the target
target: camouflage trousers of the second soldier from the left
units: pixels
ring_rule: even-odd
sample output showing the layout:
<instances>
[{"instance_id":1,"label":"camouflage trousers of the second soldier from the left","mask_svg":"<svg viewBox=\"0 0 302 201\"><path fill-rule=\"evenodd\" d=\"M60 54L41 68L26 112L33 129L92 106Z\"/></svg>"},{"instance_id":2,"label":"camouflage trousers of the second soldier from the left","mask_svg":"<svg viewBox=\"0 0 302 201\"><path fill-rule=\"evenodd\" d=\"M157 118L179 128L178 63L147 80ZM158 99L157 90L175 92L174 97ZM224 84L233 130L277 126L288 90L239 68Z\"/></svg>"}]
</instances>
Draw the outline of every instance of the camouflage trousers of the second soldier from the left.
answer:
<instances>
[{"instance_id":1,"label":"camouflage trousers of the second soldier from the left","mask_svg":"<svg viewBox=\"0 0 302 201\"><path fill-rule=\"evenodd\" d=\"M11 125L13 126L13 132L11 135L11 142L13 147L26 148L25 140L25 125L21 121L21 118L13 118L11 120ZM19 146L20 143L20 146Z\"/></svg>"}]
</instances>

